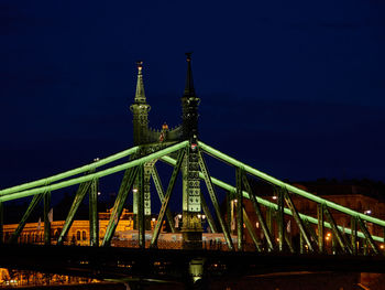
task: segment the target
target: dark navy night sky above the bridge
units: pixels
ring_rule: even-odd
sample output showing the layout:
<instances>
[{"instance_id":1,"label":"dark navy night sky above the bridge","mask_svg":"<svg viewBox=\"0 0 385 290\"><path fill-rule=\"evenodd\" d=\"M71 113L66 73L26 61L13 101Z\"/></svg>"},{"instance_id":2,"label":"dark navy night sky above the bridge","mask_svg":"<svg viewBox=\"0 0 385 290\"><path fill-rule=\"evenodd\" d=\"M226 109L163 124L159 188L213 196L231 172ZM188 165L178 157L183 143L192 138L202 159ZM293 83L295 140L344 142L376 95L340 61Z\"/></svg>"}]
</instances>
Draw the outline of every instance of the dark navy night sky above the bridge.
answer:
<instances>
[{"instance_id":1,"label":"dark navy night sky above the bridge","mask_svg":"<svg viewBox=\"0 0 385 290\"><path fill-rule=\"evenodd\" d=\"M253 3L250 3L253 2ZM136 67L152 127L180 122L279 179L385 181L385 2L0 3L0 187L132 147Z\"/></svg>"}]
</instances>

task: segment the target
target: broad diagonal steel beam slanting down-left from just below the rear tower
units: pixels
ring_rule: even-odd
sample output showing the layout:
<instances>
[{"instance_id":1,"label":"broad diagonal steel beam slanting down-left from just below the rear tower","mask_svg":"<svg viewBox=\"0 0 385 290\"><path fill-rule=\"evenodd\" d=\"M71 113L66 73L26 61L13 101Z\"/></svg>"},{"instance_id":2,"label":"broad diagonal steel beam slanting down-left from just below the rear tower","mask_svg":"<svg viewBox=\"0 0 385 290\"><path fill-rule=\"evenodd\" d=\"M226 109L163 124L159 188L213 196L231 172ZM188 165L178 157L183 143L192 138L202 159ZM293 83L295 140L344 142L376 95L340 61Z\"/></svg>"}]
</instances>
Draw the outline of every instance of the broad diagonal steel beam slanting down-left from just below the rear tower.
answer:
<instances>
[{"instance_id":1,"label":"broad diagonal steel beam slanting down-left from just below the rear tower","mask_svg":"<svg viewBox=\"0 0 385 290\"><path fill-rule=\"evenodd\" d=\"M138 174L138 167L128 169L124 172L124 176L120 185L116 203L113 204L110 221L108 222L106 235L101 244L103 247L109 246L111 244L112 236L117 229L120 216L123 212L123 205L132 189L136 174Z\"/></svg>"}]
</instances>

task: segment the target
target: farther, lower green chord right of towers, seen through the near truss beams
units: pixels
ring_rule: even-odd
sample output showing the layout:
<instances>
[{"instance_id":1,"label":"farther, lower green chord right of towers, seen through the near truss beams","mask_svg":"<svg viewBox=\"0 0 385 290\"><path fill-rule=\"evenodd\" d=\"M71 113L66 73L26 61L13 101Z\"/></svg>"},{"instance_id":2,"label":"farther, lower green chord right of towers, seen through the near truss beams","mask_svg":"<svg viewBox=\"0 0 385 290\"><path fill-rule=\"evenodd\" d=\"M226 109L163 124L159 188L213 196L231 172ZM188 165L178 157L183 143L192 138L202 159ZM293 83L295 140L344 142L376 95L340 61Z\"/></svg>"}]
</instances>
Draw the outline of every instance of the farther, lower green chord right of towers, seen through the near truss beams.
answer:
<instances>
[{"instance_id":1,"label":"farther, lower green chord right of towers, seen through the near truss beams","mask_svg":"<svg viewBox=\"0 0 385 290\"><path fill-rule=\"evenodd\" d=\"M170 164L170 165L175 165L175 160L174 160L173 158L170 158L170 157L162 157L161 159L162 159L164 162L166 162L166 163L168 163L168 164ZM204 173L199 172L199 178L200 178L200 179L205 179ZM232 185L230 185L230 184L228 184L228 183L226 183L226 182L223 182L223 181L221 181L221 180L218 180L218 179L216 179L216 178L212 178L212 176L211 176L210 179L211 179L212 184L215 184L215 185L217 185L217 186L219 186L219 187L221 187L221 189L223 189L223 190L226 190L226 191L228 191L228 192L230 192L230 193L232 193L232 194L235 194L235 193L237 193L237 189L235 189L234 186L232 186ZM249 193L248 193L246 191L243 191L243 196L244 196L245 198L250 198L250 195L249 195ZM272 203L272 202L266 201L266 200L264 200L264 198L262 198L262 197L258 197L258 196L255 196L255 197L256 197L256 201L257 201L260 204L262 204L263 206L266 206L266 207L268 207L268 208L273 208L273 210L275 210L275 211L278 208L277 205L276 205L275 203ZM285 214L292 215L292 211L290 211L289 208L286 208L286 207L285 207L284 212L285 212ZM300 218L307 218L311 224L318 225L318 219L315 218L315 217L312 217L312 216L309 216L309 215L305 215L305 214L299 213L299 217L300 217ZM376 219L377 219L377 218L376 218ZM381 221L381 219L380 219L380 221ZM330 225L329 223L324 222L324 227L331 228L331 225ZM342 226L338 226L338 228L339 228L340 230L344 232L345 234L349 234L349 235L351 235L351 233L352 233L352 230L351 230L350 228L343 228ZM361 233L361 232L358 233L358 236L359 236L360 238L365 238L364 234ZM375 241L384 243L384 237L372 236L372 238L373 238Z\"/></svg>"}]
</instances>

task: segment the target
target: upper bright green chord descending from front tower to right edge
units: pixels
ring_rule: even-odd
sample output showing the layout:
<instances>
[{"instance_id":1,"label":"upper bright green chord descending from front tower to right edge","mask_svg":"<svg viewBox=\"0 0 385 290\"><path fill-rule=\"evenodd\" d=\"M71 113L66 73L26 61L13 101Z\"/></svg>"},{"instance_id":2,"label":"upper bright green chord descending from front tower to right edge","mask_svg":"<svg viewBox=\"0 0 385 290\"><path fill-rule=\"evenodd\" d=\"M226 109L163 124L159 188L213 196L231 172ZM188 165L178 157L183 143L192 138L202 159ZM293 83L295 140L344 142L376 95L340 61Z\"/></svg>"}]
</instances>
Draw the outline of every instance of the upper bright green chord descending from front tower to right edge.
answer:
<instances>
[{"instance_id":1,"label":"upper bright green chord descending from front tower to right edge","mask_svg":"<svg viewBox=\"0 0 385 290\"><path fill-rule=\"evenodd\" d=\"M373 216L355 212L353 210L350 210L349 207L344 207L344 206L339 205L337 203L333 203L333 202L330 202L328 200L321 198L321 197L319 197L319 196L317 196L315 194L308 193L308 192L306 192L304 190L297 189L297 187L295 187L295 186L293 186L290 184L282 182L282 181L279 181L279 180L277 180L277 179L275 179L275 178L273 178L273 176L271 176L271 175L268 175L266 173L263 173L263 172L261 172L261 171L258 171L256 169L253 169L252 167L246 165L246 164L244 164L244 163L242 163L242 162L240 162L240 161L238 161L238 160L235 160L235 159L233 159L233 158L231 158L231 157L220 152L219 150L216 150L216 149L205 144L204 142L199 141L199 147L204 151L206 151L207 153L209 153L209 154L211 154L211 155L213 155L213 157L216 157L216 158L218 158L218 159L220 159L220 160L222 160L222 161L224 161L224 162L227 162L229 164L232 164L234 167L243 168L244 171L246 171L251 175L257 176L257 178L260 178L262 180L265 180L265 181L267 181L267 182L270 182L272 184L275 184L275 185L277 185L279 187L286 187L289 192L298 194L298 195L300 195L302 197L306 197L306 198L308 198L310 201L314 201L316 203L324 204L328 207L333 208L336 211L339 211L341 213L344 213L344 214L348 214L348 215L351 215L351 216L360 216L363 221L367 221L367 222L374 223L374 224L380 225L380 226L385 226L385 221L383 221L383 219L375 218Z\"/></svg>"}]
</instances>

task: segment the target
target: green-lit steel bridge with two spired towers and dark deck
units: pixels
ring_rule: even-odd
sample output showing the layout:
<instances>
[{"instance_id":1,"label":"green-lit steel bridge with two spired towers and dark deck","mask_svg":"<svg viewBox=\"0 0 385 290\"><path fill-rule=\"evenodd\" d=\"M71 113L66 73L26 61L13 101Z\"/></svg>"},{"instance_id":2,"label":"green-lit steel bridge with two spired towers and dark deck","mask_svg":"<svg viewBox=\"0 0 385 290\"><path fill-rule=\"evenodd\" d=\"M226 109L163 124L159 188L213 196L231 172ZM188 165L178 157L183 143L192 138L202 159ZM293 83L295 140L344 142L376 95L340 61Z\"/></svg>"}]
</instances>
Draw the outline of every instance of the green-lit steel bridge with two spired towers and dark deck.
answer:
<instances>
[{"instance_id":1,"label":"green-lit steel bridge with two spired towers and dark deck","mask_svg":"<svg viewBox=\"0 0 385 290\"><path fill-rule=\"evenodd\" d=\"M187 54L186 87L182 97L183 119L176 128L168 128L166 123L162 129L148 127L151 107L144 93L142 69L142 62L139 62L135 98L130 107L134 147L59 174L0 190L0 248L3 253L0 267L102 279L131 277L156 281L190 279L193 282L208 276L244 276L282 270L384 271L385 221L285 183L199 139L200 99L194 87L190 54ZM235 176L234 184L222 181L221 176L212 176L207 159L216 159L223 167L230 167ZM157 171L157 163L161 162L172 168L166 189ZM120 189L106 234L100 238L98 186L105 176L119 173L123 174ZM175 190L179 174L182 192ZM250 182L252 179L268 184L276 198L256 195ZM155 191L151 189L152 182ZM52 194L70 186L78 189L63 229L53 243L50 219ZM87 194L89 246L67 246L66 236ZM133 195L138 239L113 247L116 229L130 194ZM176 194L180 194L183 201L180 228L175 225L169 208L170 200ZM16 229L6 239L3 211L7 202L25 197L32 198L31 203ZM311 201L317 205L317 214L300 213L294 197ZM161 208L152 228L153 198L160 200ZM40 203L44 206L44 245L21 245L20 235ZM246 204L251 205L252 212L246 211ZM349 227L336 222L333 215L337 212L350 218ZM202 226L204 217L208 229ZM258 228L251 222L254 217ZM165 222L170 233L182 235L180 249L165 249L160 245ZM332 233L331 246L326 243L326 230ZM206 249L208 232L223 237L224 243L220 243L216 250ZM47 258L41 258L43 256Z\"/></svg>"}]
</instances>

